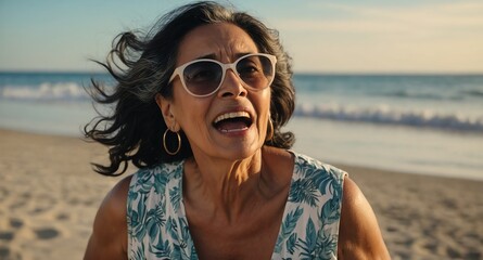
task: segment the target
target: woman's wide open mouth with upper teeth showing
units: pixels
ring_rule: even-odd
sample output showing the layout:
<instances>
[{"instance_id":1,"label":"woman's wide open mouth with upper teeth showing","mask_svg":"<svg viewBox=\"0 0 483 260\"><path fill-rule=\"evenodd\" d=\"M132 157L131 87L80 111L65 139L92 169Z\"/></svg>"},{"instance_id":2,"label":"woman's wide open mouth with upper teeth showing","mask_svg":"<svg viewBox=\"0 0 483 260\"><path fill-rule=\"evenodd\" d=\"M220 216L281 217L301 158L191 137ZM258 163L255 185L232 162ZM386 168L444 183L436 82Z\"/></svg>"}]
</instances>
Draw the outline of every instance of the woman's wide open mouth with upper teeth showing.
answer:
<instances>
[{"instance_id":1,"label":"woman's wide open mouth with upper teeth showing","mask_svg":"<svg viewBox=\"0 0 483 260\"><path fill-rule=\"evenodd\" d=\"M218 116L213 126L221 132L243 131L252 126L252 117L246 112L233 112Z\"/></svg>"}]
</instances>

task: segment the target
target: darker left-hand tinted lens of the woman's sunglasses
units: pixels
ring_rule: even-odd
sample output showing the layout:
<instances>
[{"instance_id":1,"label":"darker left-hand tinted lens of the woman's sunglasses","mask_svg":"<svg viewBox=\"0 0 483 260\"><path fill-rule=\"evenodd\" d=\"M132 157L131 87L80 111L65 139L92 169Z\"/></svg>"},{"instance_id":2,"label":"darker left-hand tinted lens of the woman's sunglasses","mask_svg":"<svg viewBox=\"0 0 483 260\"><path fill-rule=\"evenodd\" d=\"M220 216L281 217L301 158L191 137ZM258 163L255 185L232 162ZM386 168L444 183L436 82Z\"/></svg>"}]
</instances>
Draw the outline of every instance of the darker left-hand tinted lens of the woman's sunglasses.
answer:
<instances>
[{"instance_id":1,"label":"darker left-hand tinted lens of the woman's sunglasses","mask_svg":"<svg viewBox=\"0 0 483 260\"><path fill-rule=\"evenodd\" d=\"M221 67L214 62L196 62L185 68L186 87L191 93L206 95L216 90L221 81Z\"/></svg>"}]
</instances>

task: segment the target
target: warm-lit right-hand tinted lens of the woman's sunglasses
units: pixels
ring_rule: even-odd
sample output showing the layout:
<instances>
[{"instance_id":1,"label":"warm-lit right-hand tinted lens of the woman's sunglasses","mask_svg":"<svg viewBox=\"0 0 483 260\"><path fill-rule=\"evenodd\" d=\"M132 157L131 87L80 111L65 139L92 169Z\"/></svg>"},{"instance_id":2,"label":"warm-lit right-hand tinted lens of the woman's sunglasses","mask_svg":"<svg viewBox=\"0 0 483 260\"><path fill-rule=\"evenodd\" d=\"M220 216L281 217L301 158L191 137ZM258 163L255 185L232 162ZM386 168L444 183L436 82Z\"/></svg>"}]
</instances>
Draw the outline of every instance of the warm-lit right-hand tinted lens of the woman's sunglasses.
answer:
<instances>
[{"instance_id":1,"label":"warm-lit right-hand tinted lens of the woman's sunglasses","mask_svg":"<svg viewBox=\"0 0 483 260\"><path fill-rule=\"evenodd\" d=\"M251 55L240 60L237 72L240 78L254 89L267 88L274 78L271 61L263 55Z\"/></svg>"}]
</instances>

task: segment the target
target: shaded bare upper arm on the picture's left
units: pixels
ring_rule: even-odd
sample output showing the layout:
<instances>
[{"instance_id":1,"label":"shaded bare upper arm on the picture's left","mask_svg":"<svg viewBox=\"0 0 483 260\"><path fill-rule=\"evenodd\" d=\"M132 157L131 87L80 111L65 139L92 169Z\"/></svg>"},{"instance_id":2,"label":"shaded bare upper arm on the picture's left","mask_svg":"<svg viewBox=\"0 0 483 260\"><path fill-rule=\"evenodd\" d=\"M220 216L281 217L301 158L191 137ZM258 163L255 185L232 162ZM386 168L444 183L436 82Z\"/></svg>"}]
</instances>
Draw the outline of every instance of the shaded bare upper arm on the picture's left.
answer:
<instances>
[{"instance_id":1,"label":"shaded bare upper arm on the picture's left","mask_svg":"<svg viewBox=\"0 0 483 260\"><path fill-rule=\"evenodd\" d=\"M130 179L117 183L102 202L84 259L127 259L126 202Z\"/></svg>"}]
</instances>

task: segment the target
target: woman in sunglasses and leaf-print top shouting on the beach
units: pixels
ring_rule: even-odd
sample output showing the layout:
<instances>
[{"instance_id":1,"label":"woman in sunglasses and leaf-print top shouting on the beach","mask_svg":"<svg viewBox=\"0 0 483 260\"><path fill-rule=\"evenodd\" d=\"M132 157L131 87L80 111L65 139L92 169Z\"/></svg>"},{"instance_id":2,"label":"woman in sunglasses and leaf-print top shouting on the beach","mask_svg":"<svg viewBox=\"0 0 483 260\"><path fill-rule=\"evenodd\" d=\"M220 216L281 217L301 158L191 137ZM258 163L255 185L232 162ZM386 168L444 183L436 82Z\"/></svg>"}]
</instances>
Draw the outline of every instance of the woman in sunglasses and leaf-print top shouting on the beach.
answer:
<instances>
[{"instance_id":1,"label":"woman in sunglasses and leaf-print top shouting on the beach","mask_svg":"<svg viewBox=\"0 0 483 260\"><path fill-rule=\"evenodd\" d=\"M199 2L153 31L118 39L103 65L113 93L94 83L115 104L86 127L111 146L98 172L140 170L104 199L86 259L389 258L346 173L289 150L292 70L275 30Z\"/></svg>"}]
</instances>

